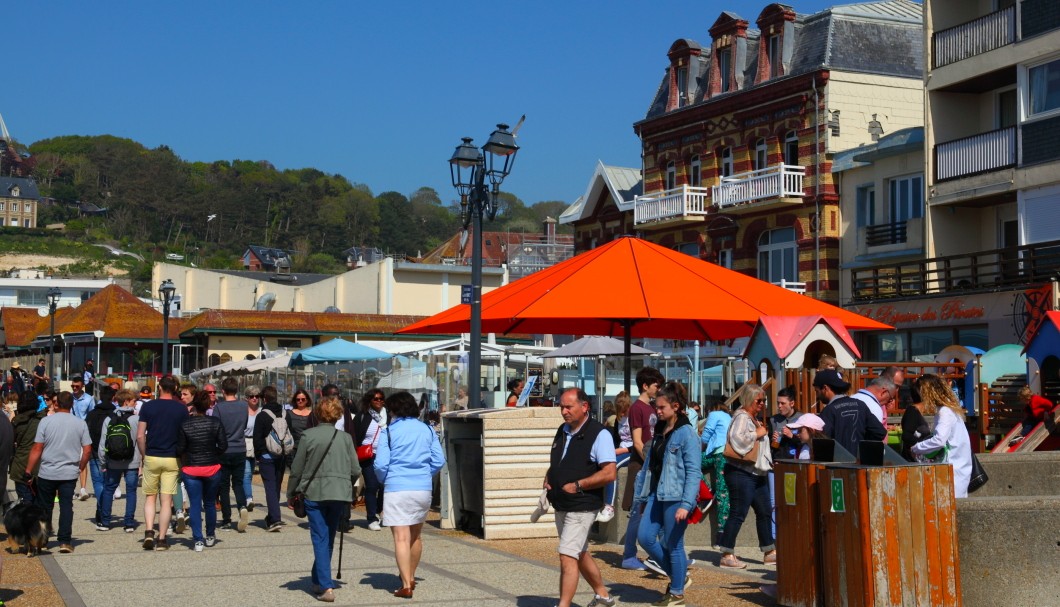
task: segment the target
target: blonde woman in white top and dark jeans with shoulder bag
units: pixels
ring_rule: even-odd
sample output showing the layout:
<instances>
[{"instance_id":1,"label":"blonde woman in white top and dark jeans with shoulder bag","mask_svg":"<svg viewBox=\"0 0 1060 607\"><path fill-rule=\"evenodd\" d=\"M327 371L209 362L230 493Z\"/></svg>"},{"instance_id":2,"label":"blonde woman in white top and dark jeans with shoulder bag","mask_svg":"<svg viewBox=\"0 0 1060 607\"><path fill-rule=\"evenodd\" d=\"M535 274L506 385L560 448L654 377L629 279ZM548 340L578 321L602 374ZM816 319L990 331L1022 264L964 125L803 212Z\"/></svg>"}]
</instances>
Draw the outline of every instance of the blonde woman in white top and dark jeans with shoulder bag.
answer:
<instances>
[{"instance_id":1,"label":"blonde woman in white top and dark jeans with shoulder bag","mask_svg":"<svg viewBox=\"0 0 1060 607\"><path fill-rule=\"evenodd\" d=\"M773 507L770 505L770 431L759 418L765 409L765 391L757 383L746 383L740 393L740 408L732 415L725 446L725 483L729 489L729 517L719 534L722 551L719 566L744 569L747 564L736 556L736 536L740 533L747 511L755 508L758 546L764 565L777 564L773 541Z\"/></svg>"}]
</instances>

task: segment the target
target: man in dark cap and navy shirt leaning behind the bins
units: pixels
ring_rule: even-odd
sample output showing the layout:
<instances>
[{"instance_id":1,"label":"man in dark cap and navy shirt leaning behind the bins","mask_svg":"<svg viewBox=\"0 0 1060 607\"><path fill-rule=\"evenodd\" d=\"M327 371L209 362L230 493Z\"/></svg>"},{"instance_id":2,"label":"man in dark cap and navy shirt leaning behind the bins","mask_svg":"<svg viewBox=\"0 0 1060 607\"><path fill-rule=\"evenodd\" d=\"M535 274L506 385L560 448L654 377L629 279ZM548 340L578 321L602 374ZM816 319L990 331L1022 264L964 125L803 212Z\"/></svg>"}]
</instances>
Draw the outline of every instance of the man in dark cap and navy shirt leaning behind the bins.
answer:
<instances>
[{"instance_id":1,"label":"man in dark cap and navy shirt leaning behind the bins","mask_svg":"<svg viewBox=\"0 0 1060 607\"><path fill-rule=\"evenodd\" d=\"M825 433L842 445L853 457L858 457L858 444L862 441L883 441L887 430L879 417L869 411L864 403L847 396L848 383L838 371L818 371L813 378L817 390L817 400L827 405L820 412L825 421Z\"/></svg>"}]
</instances>

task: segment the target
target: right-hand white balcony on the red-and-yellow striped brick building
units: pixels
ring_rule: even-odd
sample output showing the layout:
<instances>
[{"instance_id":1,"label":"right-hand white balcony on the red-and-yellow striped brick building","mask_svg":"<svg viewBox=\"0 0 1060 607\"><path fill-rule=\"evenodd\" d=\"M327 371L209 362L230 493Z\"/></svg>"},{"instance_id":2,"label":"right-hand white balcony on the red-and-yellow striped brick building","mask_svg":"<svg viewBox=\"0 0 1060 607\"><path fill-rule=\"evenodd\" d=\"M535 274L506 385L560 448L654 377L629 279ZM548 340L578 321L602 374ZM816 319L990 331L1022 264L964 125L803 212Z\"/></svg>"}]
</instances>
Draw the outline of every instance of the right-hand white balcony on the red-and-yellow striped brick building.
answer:
<instances>
[{"instance_id":1,"label":"right-hand white balcony on the red-and-yellow striped brick building","mask_svg":"<svg viewBox=\"0 0 1060 607\"><path fill-rule=\"evenodd\" d=\"M722 177L721 182L710 189L711 198L714 207L726 213L752 213L801 204L805 177L803 166L776 164Z\"/></svg>"}]
</instances>

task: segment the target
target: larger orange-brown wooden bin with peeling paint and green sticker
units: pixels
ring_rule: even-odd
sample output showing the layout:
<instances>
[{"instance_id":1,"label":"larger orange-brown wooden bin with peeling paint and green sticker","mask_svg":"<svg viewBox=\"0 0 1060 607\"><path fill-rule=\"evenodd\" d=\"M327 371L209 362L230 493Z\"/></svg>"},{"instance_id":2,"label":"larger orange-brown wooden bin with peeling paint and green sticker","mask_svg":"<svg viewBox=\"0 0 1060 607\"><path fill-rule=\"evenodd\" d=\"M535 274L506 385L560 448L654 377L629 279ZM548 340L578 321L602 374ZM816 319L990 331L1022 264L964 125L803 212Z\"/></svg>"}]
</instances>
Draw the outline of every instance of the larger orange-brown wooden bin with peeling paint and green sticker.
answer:
<instances>
[{"instance_id":1,"label":"larger orange-brown wooden bin with peeling paint and green sticker","mask_svg":"<svg viewBox=\"0 0 1060 607\"><path fill-rule=\"evenodd\" d=\"M961 605L950 465L828 464L817 496L827 607Z\"/></svg>"}]
</instances>

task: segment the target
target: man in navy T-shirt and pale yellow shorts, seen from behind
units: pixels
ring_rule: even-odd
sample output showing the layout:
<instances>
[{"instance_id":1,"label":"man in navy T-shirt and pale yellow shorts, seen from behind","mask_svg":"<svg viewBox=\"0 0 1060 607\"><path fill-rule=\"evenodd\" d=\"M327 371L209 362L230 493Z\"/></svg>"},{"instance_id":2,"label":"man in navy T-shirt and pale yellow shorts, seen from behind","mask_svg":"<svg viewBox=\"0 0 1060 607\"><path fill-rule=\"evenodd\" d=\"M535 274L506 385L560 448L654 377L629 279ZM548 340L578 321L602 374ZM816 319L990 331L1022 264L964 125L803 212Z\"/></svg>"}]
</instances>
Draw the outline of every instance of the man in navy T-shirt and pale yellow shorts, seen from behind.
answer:
<instances>
[{"instance_id":1,"label":"man in navy T-shirt and pale yellow shorts, seen from behind","mask_svg":"<svg viewBox=\"0 0 1060 607\"><path fill-rule=\"evenodd\" d=\"M177 432L188 418L188 407L177 399L177 380L165 375L158 380L161 396L148 400L140 408L136 443L143 456L143 518L147 529L143 533L144 550L169 550L165 533L173 516L173 496L179 490L179 462L177 461ZM161 504L157 503L161 494ZM155 538L156 506L158 538Z\"/></svg>"}]
</instances>

